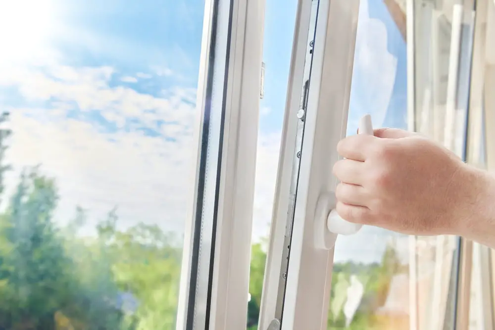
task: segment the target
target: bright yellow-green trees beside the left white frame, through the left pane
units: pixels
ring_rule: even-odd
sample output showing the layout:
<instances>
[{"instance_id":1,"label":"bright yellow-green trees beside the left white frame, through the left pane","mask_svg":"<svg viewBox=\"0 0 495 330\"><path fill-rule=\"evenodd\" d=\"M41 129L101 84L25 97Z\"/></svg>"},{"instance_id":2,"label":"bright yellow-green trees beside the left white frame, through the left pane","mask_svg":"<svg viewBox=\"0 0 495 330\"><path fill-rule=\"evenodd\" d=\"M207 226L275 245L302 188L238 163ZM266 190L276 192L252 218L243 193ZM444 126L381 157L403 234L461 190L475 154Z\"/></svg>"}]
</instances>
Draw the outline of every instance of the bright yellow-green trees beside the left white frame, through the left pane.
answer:
<instances>
[{"instance_id":1,"label":"bright yellow-green trees beside the left white frame, through the left pane","mask_svg":"<svg viewBox=\"0 0 495 330\"><path fill-rule=\"evenodd\" d=\"M156 225L117 229L116 209L98 226L113 282L128 298L123 329L175 329L181 248Z\"/></svg>"}]
</instances>

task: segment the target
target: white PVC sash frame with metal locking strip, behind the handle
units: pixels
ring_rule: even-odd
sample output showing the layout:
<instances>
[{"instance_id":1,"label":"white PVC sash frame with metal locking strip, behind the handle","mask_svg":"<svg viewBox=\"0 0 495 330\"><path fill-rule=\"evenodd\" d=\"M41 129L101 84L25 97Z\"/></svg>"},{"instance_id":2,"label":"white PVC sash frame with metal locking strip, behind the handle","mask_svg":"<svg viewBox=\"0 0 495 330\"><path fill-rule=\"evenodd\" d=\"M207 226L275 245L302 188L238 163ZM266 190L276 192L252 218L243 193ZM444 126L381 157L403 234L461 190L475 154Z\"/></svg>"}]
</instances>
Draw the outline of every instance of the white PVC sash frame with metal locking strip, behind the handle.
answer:
<instances>
[{"instance_id":1,"label":"white PVC sash frame with metal locking strip, behind the handle","mask_svg":"<svg viewBox=\"0 0 495 330\"><path fill-rule=\"evenodd\" d=\"M282 243L295 154L297 110L308 42L311 1L299 1L260 329L275 318ZM301 150L282 330L326 330L333 249L314 245L314 212L320 193L335 189L332 166L346 134L359 0L320 0ZM331 124L330 124L331 123Z\"/></svg>"}]
</instances>

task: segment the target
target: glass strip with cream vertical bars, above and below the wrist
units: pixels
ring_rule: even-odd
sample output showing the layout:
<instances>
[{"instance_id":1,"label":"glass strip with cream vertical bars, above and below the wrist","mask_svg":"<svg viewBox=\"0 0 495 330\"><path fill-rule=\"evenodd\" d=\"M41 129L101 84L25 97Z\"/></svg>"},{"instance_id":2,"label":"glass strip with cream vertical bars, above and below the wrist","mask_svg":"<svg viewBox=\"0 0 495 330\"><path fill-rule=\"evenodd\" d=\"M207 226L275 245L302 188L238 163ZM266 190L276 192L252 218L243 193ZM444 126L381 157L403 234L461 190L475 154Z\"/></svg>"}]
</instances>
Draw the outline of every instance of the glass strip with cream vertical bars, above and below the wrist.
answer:
<instances>
[{"instance_id":1,"label":"glass strip with cream vertical bars, above and below the wrist","mask_svg":"<svg viewBox=\"0 0 495 330\"><path fill-rule=\"evenodd\" d=\"M415 1L415 127L465 157L473 1ZM417 237L417 324L453 329L459 238Z\"/></svg>"}]
</instances>

